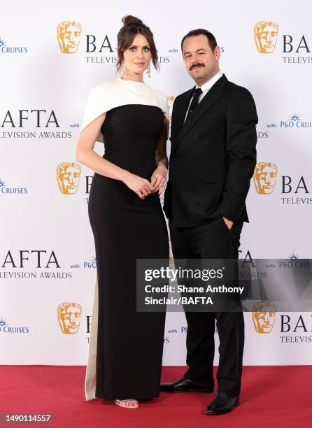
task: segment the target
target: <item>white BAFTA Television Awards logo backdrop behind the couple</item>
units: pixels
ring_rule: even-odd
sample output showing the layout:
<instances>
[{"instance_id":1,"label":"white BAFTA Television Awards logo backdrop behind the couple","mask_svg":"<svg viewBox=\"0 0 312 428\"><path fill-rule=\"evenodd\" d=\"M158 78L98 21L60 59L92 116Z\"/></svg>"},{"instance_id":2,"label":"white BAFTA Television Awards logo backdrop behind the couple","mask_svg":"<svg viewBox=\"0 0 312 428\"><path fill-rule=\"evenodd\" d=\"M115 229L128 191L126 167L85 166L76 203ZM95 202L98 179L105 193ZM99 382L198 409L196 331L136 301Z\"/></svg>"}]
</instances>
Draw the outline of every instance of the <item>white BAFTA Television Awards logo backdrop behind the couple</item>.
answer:
<instances>
[{"instance_id":1,"label":"white BAFTA Television Awards logo backdrop behind the couple","mask_svg":"<svg viewBox=\"0 0 312 428\"><path fill-rule=\"evenodd\" d=\"M76 143L91 88L118 77L116 36L127 14L155 35L160 71L145 81L167 94L170 106L193 86L181 38L196 28L215 35L221 71L250 90L259 115L241 257L295 265L311 256L311 13L309 2L294 8L281 0L3 5L1 364L87 362L97 268L87 216L93 171L76 161ZM103 143L94 150L103 155ZM244 315L244 364L312 363L312 313L281 312L264 301ZM164 365L185 365L186 331L184 313L167 314ZM218 349L217 332L215 341Z\"/></svg>"}]
</instances>

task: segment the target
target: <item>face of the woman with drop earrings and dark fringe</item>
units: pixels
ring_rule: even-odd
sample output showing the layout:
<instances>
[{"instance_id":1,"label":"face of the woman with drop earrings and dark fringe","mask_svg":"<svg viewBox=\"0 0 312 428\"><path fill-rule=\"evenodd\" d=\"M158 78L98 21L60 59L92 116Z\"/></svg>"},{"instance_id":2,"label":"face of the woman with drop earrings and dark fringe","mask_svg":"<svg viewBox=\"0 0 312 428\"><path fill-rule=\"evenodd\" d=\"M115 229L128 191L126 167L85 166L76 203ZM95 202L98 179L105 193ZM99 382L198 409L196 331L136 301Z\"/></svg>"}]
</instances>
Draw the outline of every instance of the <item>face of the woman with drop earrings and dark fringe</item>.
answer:
<instances>
[{"instance_id":1,"label":"face of the woman with drop earrings and dark fringe","mask_svg":"<svg viewBox=\"0 0 312 428\"><path fill-rule=\"evenodd\" d=\"M124 72L143 73L148 68L152 54L146 36L136 34L132 45L124 52Z\"/></svg>"}]
</instances>

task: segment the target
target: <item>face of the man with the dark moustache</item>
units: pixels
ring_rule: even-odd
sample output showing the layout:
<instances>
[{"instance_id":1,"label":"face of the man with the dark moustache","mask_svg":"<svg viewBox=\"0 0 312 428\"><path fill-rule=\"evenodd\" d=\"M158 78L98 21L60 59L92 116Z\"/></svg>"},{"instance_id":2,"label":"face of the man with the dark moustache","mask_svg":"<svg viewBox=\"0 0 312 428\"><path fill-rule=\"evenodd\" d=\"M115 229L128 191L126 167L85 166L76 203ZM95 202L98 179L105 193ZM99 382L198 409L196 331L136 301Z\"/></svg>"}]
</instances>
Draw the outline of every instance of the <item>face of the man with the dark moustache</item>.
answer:
<instances>
[{"instance_id":1,"label":"face of the man with the dark moustache","mask_svg":"<svg viewBox=\"0 0 312 428\"><path fill-rule=\"evenodd\" d=\"M197 85L203 85L218 73L220 48L217 46L213 52L204 34L185 38L182 53L187 73Z\"/></svg>"}]
</instances>

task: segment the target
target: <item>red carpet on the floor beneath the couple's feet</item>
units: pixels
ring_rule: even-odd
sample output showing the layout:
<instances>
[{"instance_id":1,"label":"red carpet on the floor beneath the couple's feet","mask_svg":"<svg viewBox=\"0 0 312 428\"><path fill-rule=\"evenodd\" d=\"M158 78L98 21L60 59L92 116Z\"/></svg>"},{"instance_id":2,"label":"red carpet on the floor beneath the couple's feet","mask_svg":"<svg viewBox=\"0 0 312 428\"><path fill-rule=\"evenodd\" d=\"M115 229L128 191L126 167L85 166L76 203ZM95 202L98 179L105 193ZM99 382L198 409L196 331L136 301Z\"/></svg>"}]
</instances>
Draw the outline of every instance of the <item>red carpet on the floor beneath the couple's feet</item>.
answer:
<instances>
[{"instance_id":1,"label":"red carpet on the floor beneath the couple's feet","mask_svg":"<svg viewBox=\"0 0 312 428\"><path fill-rule=\"evenodd\" d=\"M183 372L183 367L164 367L163 380ZM37 427L312 426L312 366L244 367L241 406L220 416L203 414L213 394L162 393L139 409L103 399L85 401L84 366L1 366L0 373L0 413L52 414L52 424Z\"/></svg>"}]
</instances>

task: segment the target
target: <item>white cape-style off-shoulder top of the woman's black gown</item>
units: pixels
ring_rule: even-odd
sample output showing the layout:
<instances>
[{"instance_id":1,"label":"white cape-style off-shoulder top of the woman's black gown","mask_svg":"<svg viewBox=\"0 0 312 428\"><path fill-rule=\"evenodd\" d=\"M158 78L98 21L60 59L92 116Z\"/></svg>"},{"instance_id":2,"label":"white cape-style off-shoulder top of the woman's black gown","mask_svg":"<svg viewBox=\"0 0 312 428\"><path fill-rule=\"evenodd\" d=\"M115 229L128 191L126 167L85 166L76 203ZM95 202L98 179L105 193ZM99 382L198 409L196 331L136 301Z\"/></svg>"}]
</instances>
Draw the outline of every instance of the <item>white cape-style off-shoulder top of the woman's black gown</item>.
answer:
<instances>
[{"instance_id":1,"label":"white cape-style off-shoulder top of the woman's black gown","mask_svg":"<svg viewBox=\"0 0 312 428\"><path fill-rule=\"evenodd\" d=\"M100 83L92 88L87 99L80 132L101 114L127 104L156 106L163 111L166 118L169 117L168 97L165 94L146 85L146 83L118 78L112 82ZM104 141L101 131L99 131L97 141L102 143Z\"/></svg>"}]
</instances>

